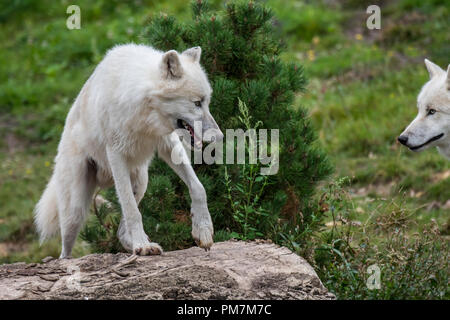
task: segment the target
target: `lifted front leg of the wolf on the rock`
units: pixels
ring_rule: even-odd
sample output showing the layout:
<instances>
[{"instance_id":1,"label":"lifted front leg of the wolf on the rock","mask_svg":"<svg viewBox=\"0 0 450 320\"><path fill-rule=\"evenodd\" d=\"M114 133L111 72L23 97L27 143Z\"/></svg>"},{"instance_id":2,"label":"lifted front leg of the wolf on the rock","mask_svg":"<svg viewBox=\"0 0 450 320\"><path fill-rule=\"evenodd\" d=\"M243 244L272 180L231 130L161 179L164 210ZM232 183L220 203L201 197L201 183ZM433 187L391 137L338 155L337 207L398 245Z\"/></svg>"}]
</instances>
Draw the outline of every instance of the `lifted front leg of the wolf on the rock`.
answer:
<instances>
[{"instance_id":1,"label":"lifted front leg of the wolf on the rock","mask_svg":"<svg viewBox=\"0 0 450 320\"><path fill-rule=\"evenodd\" d=\"M183 161L173 161L173 154L176 154L177 160L183 158ZM158 155L177 173L189 188L189 195L192 201L192 237L199 247L209 250L213 244L214 228L206 201L206 191L200 180L198 180L187 158L186 151L175 133L164 138L164 143L158 148Z\"/></svg>"}]
</instances>

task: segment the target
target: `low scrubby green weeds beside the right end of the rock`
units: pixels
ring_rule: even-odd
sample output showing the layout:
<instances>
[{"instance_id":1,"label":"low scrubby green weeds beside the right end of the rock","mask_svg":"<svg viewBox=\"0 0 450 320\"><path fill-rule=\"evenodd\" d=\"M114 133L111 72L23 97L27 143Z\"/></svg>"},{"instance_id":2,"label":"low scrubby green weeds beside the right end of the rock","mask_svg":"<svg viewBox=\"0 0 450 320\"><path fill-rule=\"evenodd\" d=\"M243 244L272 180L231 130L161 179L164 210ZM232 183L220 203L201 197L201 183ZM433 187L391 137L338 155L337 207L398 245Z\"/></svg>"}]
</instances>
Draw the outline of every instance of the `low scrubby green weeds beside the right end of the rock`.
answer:
<instances>
[{"instance_id":1,"label":"low scrubby green weeds beside the right end of the rock","mask_svg":"<svg viewBox=\"0 0 450 320\"><path fill-rule=\"evenodd\" d=\"M330 184L322 197L333 227L321 233L310 261L338 299L449 299L448 240L435 223L411 233L414 211L404 201L378 206L362 226L354 226L354 202L344 180ZM370 266L379 268L380 288L367 285Z\"/></svg>"}]
</instances>

